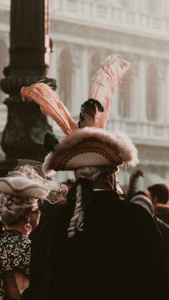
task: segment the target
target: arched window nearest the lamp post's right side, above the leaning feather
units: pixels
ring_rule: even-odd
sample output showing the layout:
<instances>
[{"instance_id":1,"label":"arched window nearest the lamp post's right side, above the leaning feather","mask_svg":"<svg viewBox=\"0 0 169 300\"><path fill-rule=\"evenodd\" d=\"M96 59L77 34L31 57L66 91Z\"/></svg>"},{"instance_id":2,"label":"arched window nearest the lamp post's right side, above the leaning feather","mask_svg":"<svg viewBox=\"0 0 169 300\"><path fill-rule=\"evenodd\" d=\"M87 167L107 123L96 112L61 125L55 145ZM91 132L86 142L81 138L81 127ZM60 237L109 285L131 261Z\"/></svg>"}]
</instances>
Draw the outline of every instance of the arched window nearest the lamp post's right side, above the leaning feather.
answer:
<instances>
[{"instance_id":1,"label":"arched window nearest the lamp post's right side, above the leaning feather","mask_svg":"<svg viewBox=\"0 0 169 300\"><path fill-rule=\"evenodd\" d=\"M73 62L71 54L67 49L64 49L60 56L59 96L69 110L71 109L72 101L72 72Z\"/></svg>"}]
</instances>

